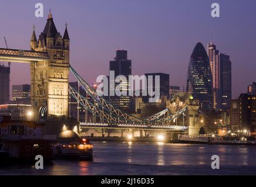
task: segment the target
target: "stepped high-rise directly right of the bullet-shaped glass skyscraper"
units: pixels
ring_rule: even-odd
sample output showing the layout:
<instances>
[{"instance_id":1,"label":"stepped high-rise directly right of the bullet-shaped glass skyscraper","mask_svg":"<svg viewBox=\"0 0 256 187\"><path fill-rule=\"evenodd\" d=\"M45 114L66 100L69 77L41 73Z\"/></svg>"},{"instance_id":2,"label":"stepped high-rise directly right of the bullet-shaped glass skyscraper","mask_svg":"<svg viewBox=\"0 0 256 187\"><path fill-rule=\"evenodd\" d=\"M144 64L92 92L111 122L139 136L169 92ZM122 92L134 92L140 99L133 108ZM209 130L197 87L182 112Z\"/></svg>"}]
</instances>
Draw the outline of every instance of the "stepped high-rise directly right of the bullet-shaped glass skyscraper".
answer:
<instances>
[{"instance_id":1,"label":"stepped high-rise directly right of the bullet-shaped glass skyscraper","mask_svg":"<svg viewBox=\"0 0 256 187\"><path fill-rule=\"evenodd\" d=\"M213 43L208 44L208 56L213 76L213 108L229 110L232 98L230 56L219 53Z\"/></svg>"}]
</instances>

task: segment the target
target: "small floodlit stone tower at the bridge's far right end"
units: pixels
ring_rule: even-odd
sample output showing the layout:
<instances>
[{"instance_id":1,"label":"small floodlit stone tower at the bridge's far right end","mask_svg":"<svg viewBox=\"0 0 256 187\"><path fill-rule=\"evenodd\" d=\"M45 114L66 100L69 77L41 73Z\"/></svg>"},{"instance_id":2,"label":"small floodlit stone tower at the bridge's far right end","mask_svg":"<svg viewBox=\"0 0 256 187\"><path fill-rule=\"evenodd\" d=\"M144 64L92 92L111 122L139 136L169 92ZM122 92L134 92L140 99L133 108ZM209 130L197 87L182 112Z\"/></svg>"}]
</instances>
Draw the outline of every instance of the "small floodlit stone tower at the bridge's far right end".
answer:
<instances>
[{"instance_id":1,"label":"small floodlit stone tower at the bridge's far right end","mask_svg":"<svg viewBox=\"0 0 256 187\"><path fill-rule=\"evenodd\" d=\"M200 103L197 100L188 101L188 135L197 135L200 130L199 109Z\"/></svg>"}]
</instances>

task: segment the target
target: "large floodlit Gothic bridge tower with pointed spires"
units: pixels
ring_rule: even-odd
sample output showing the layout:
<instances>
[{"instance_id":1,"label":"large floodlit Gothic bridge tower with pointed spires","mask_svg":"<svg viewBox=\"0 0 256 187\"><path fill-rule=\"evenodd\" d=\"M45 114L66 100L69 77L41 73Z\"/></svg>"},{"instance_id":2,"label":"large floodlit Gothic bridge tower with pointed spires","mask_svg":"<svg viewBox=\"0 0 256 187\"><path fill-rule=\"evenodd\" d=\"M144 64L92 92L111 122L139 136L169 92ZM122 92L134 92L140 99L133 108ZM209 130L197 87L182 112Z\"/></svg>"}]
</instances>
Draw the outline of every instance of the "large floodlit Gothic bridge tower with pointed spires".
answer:
<instances>
[{"instance_id":1,"label":"large floodlit Gothic bridge tower with pointed spires","mask_svg":"<svg viewBox=\"0 0 256 187\"><path fill-rule=\"evenodd\" d=\"M58 32L49 13L45 29L37 40L35 26L31 37L31 51L47 52L49 60L31 61L31 104L36 118L68 117L69 34Z\"/></svg>"}]
</instances>

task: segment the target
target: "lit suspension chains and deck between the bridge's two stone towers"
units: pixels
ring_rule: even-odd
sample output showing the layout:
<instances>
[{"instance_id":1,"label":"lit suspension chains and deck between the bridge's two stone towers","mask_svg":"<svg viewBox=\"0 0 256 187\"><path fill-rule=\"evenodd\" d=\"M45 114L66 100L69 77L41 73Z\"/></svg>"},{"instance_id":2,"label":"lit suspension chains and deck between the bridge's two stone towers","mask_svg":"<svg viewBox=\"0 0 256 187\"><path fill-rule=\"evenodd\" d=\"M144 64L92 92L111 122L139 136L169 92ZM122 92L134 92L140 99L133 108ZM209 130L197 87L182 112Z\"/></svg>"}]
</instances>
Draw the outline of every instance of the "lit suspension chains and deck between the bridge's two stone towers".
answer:
<instances>
[{"instance_id":1,"label":"lit suspension chains and deck between the bridge's two stone towers","mask_svg":"<svg viewBox=\"0 0 256 187\"><path fill-rule=\"evenodd\" d=\"M86 96L83 96L75 88L69 86L69 94L75 98L79 106L82 106L85 110L92 114L94 122L80 122L80 127L86 128L100 128L100 129L138 129L138 130L171 130L171 131L183 131L187 130L187 126L173 126L171 122L175 122L179 116L184 116L187 108L181 109L178 112L170 113L169 109L164 109L152 116L140 119L133 115L123 112L116 108L114 105L106 101L102 96L97 95L95 89L93 89L87 82L80 77L78 72L70 66L70 72L75 75L79 82L79 85L86 92ZM95 117L100 121L96 123ZM183 122L184 124L184 122Z\"/></svg>"}]
</instances>

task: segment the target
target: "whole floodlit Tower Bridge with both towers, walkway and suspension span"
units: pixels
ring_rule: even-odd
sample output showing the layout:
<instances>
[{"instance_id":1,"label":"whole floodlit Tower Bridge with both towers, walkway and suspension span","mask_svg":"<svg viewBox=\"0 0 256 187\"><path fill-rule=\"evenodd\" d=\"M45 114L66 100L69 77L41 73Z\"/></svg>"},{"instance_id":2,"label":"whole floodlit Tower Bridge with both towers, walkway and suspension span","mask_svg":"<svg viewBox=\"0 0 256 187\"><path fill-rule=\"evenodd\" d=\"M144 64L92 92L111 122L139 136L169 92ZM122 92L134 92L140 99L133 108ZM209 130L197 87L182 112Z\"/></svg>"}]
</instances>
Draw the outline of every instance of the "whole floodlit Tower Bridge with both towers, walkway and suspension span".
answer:
<instances>
[{"instance_id":1,"label":"whole floodlit Tower Bridge with both towers, walkway and suspension span","mask_svg":"<svg viewBox=\"0 0 256 187\"><path fill-rule=\"evenodd\" d=\"M69 34L66 24L62 35L56 29L52 14L48 19L43 32L37 39L35 26L31 37L31 50L0 49L0 61L29 63L31 72L31 104L36 120L41 117L50 119L62 116L68 119L70 98L75 98L78 106L82 106L93 116L93 122L80 122L82 128L110 128L110 129L147 129L166 131L191 131L196 134L199 130L198 108L199 103L190 103L175 113L169 109L140 119L106 101L69 63ZM86 97L69 86L69 72L72 72L79 84L85 89ZM90 96L90 99L87 98ZM188 117L187 126L173 126L172 121L179 116ZM99 120L99 122L96 121ZM79 117L78 117L79 120Z\"/></svg>"}]
</instances>

